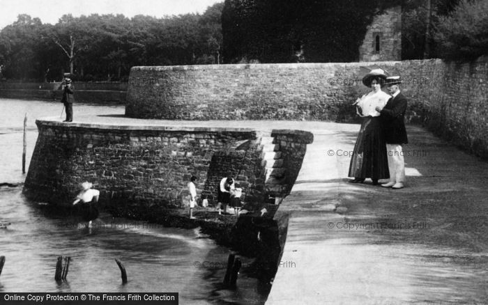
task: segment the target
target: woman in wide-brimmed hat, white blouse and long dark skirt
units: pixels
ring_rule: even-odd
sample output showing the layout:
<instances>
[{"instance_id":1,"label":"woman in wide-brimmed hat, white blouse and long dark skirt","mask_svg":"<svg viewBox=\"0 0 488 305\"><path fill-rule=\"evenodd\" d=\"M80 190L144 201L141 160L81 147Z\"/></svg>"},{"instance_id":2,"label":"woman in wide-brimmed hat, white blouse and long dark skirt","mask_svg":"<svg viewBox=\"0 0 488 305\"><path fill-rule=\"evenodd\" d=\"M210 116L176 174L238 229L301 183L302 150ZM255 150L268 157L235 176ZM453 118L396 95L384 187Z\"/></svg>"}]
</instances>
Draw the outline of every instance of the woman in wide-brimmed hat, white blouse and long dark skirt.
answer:
<instances>
[{"instance_id":1,"label":"woman in wide-brimmed hat, white blouse and long dark skirt","mask_svg":"<svg viewBox=\"0 0 488 305\"><path fill-rule=\"evenodd\" d=\"M372 70L363 77L363 84L372 91L355 103L362 122L349 166L349 177L354 177L349 181L351 183L363 183L366 178L371 178L373 185L378 185L379 179L390 178L380 114L375 110L376 107L382 109L390 99L390 95L381 91L385 79L381 69Z\"/></svg>"}]
</instances>

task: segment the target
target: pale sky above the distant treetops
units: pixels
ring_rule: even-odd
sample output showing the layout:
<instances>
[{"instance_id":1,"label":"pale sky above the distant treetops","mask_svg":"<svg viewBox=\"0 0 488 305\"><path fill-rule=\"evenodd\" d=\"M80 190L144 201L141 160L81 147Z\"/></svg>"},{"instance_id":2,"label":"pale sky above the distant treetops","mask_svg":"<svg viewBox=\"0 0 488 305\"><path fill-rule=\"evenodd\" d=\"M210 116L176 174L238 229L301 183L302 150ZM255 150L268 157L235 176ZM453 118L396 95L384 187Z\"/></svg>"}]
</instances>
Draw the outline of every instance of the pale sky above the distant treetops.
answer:
<instances>
[{"instance_id":1,"label":"pale sky above the distant treetops","mask_svg":"<svg viewBox=\"0 0 488 305\"><path fill-rule=\"evenodd\" d=\"M224 0L0 0L0 29L17 20L17 15L38 17L56 24L65 14L123 14L125 17L149 15L164 17L185 13L204 13L208 6Z\"/></svg>"}]
</instances>

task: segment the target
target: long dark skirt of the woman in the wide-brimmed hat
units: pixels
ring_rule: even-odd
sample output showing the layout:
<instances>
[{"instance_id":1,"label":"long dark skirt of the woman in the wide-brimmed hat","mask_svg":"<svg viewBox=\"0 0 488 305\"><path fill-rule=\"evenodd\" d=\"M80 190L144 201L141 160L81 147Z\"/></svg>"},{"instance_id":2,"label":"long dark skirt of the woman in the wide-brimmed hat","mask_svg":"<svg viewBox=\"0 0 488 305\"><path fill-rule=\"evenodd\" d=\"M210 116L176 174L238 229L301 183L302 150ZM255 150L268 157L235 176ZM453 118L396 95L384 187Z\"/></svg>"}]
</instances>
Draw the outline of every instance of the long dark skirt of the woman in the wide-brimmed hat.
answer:
<instances>
[{"instance_id":1,"label":"long dark skirt of the woman in the wide-brimmed hat","mask_svg":"<svg viewBox=\"0 0 488 305\"><path fill-rule=\"evenodd\" d=\"M376 180L390 178L385 137L377 116L363 118L351 156L349 177Z\"/></svg>"}]
</instances>

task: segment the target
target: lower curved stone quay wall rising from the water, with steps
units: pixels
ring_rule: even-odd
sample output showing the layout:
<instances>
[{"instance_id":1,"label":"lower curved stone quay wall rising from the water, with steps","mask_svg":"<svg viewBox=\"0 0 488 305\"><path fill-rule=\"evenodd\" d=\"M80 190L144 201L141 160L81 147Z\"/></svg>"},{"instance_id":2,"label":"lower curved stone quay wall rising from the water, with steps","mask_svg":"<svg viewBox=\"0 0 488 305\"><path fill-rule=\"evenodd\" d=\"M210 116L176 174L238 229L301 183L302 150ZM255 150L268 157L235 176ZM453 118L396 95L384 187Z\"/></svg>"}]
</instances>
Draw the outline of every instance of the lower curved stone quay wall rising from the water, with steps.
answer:
<instances>
[{"instance_id":1,"label":"lower curved stone quay wall rising from the water, with steps","mask_svg":"<svg viewBox=\"0 0 488 305\"><path fill-rule=\"evenodd\" d=\"M309 132L274 130L268 134L245 128L114 126L36 121L38 141L33 152L24 193L36 201L69 205L88 180L100 189L103 203L121 214L134 216L151 208L181 208L191 175L197 189L206 188L209 199L216 185L206 183L215 177L236 175L243 188L244 201L266 198L266 164L262 164L263 136L286 138L290 166L301 166ZM290 150L293 145L293 150ZM208 172L214 155L241 155L239 164L220 166ZM262 164L262 165L261 165ZM239 169L232 171L232 166ZM296 179L291 169L287 180ZM286 196L289 189L283 189ZM214 204L210 200L211 205Z\"/></svg>"}]
</instances>

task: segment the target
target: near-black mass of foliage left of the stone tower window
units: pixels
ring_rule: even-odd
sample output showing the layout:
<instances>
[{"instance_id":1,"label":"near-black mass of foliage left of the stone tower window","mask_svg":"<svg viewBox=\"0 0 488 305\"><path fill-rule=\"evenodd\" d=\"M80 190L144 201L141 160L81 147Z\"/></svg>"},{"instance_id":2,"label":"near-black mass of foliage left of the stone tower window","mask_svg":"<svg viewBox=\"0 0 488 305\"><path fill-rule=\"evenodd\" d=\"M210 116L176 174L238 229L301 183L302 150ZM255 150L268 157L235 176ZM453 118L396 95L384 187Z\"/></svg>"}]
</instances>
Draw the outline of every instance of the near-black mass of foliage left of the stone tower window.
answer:
<instances>
[{"instance_id":1,"label":"near-black mass of foliage left of the stone tower window","mask_svg":"<svg viewBox=\"0 0 488 305\"><path fill-rule=\"evenodd\" d=\"M226 0L222 10L228 63L357 61L374 15L400 1Z\"/></svg>"}]
</instances>

